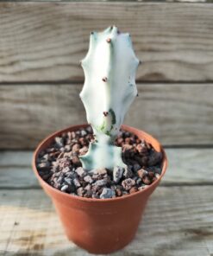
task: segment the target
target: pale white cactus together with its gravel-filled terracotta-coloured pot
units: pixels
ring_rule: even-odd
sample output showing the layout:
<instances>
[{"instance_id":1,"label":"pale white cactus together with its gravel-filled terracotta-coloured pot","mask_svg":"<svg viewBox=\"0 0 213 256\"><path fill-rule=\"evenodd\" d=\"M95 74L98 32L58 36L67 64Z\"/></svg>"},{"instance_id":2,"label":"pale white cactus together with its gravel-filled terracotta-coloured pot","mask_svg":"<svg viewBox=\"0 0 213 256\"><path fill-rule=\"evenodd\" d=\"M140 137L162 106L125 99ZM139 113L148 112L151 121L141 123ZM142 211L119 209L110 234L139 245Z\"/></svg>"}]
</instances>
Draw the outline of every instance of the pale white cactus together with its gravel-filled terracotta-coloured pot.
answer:
<instances>
[{"instance_id":1,"label":"pale white cactus together with its gravel-filled terracotta-coloured pot","mask_svg":"<svg viewBox=\"0 0 213 256\"><path fill-rule=\"evenodd\" d=\"M134 238L149 195L166 172L166 154L144 131L122 125L137 95L130 36L91 32L80 97L90 125L57 131L37 147L34 173L66 235L90 253L111 253Z\"/></svg>"}]
</instances>

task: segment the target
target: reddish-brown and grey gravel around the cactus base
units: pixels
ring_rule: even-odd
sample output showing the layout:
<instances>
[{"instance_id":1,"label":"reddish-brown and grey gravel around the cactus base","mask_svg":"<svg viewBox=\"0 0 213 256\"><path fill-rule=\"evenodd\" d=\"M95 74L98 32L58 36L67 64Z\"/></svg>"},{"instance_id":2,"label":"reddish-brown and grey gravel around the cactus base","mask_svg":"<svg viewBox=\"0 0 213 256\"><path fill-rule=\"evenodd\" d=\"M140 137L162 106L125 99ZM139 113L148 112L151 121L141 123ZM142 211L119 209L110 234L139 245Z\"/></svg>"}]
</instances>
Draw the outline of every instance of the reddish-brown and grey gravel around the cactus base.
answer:
<instances>
[{"instance_id":1,"label":"reddish-brown and grey gravel around the cactus base","mask_svg":"<svg viewBox=\"0 0 213 256\"><path fill-rule=\"evenodd\" d=\"M56 137L36 160L41 178L64 193L104 199L135 193L160 176L162 153L127 131L116 138L127 168L84 170L78 157L85 155L92 141L90 126Z\"/></svg>"}]
</instances>

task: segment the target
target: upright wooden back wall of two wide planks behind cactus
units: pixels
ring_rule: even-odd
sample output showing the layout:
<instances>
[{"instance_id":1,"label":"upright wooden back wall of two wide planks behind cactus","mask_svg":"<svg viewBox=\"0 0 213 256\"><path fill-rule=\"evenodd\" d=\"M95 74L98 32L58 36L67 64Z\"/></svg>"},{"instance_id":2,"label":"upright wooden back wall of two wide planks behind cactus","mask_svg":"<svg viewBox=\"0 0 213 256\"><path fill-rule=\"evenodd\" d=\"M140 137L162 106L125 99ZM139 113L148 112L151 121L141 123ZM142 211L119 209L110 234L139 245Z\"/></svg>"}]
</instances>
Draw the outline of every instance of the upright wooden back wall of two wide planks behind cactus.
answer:
<instances>
[{"instance_id":1,"label":"upright wooden back wall of two wide planks behind cactus","mask_svg":"<svg viewBox=\"0 0 213 256\"><path fill-rule=\"evenodd\" d=\"M164 145L212 145L212 3L0 3L0 149L85 122L79 61L116 24L143 61L125 119Z\"/></svg>"}]
</instances>

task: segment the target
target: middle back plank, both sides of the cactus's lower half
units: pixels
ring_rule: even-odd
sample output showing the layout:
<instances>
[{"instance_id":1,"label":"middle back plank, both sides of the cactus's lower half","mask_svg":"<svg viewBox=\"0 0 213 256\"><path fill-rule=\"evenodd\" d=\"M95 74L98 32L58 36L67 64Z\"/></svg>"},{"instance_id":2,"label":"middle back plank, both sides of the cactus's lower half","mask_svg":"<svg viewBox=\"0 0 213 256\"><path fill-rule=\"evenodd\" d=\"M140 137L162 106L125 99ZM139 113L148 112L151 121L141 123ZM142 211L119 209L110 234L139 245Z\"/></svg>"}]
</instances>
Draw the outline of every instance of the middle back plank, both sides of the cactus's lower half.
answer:
<instances>
[{"instance_id":1,"label":"middle back plank, both sides of the cactus's lower half","mask_svg":"<svg viewBox=\"0 0 213 256\"><path fill-rule=\"evenodd\" d=\"M85 123L81 85L0 85L0 149L34 149L42 138ZM139 84L125 124L162 144L212 144L213 84ZM97 106L98 107L98 106Z\"/></svg>"}]
</instances>

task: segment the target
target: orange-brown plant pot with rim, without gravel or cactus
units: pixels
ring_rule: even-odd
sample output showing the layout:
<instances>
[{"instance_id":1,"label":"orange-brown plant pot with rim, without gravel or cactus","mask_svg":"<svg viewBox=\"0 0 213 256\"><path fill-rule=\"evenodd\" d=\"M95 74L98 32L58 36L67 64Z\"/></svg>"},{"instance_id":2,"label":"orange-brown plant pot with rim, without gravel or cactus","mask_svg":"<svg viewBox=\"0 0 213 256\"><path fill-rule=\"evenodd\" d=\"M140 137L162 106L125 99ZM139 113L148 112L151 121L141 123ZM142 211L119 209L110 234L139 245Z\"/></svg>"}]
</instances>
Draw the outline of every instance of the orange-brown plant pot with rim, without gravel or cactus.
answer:
<instances>
[{"instance_id":1,"label":"orange-brown plant pot with rim, without gravel or cactus","mask_svg":"<svg viewBox=\"0 0 213 256\"><path fill-rule=\"evenodd\" d=\"M60 220L69 240L84 248L90 253L112 253L134 238L141 215L147 204L148 197L158 186L160 179L166 172L167 160L165 151L160 143L145 133L133 127L122 125L125 131L135 133L139 138L144 138L153 148L163 152L162 173L160 178L146 189L135 194L125 195L112 199L90 199L68 195L53 189L39 176L35 166L35 159L41 150L46 149L53 138L66 131L76 131L87 125L71 126L63 131L57 131L41 142L34 151L33 169L42 188L53 201Z\"/></svg>"}]
</instances>

